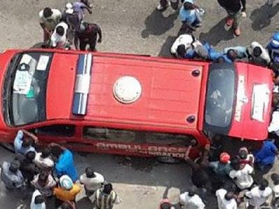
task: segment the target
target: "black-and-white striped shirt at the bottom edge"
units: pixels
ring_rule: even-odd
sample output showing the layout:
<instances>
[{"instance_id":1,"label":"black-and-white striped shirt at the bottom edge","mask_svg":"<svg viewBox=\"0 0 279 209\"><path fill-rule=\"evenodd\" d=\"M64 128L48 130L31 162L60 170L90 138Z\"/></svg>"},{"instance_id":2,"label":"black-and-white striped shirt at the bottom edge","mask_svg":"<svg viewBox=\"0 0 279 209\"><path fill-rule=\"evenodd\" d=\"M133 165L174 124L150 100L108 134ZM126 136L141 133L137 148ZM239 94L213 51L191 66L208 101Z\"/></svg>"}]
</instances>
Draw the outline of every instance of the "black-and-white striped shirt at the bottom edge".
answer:
<instances>
[{"instance_id":1,"label":"black-and-white striped shirt at the bottom edge","mask_svg":"<svg viewBox=\"0 0 279 209\"><path fill-rule=\"evenodd\" d=\"M110 194L105 194L102 189L95 192L96 209L112 209L114 204L121 203L120 197L112 190Z\"/></svg>"}]
</instances>

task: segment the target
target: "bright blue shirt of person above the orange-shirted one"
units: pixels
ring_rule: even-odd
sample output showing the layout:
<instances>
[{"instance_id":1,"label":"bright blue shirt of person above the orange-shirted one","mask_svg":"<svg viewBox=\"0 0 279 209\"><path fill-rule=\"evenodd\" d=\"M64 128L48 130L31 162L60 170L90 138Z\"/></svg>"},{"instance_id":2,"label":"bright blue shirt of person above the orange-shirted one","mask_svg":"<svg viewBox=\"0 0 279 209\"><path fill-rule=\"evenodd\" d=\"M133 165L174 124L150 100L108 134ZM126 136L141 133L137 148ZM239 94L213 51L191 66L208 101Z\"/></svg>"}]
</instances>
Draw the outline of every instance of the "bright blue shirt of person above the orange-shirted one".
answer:
<instances>
[{"instance_id":1,"label":"bright blue shirt of person above the orange-shirted one","mask_svg":"<svg viewBox=\"0 0 279 209\"><path fill-rule=\"evenodd\" d=\"M77 181L77 169L75 169L73 154L70 152L70 150L64 150L59 156L59 159L55 165L55 171L59 177L67 175L73 180L73 182Z\"/></svg>"}]
</instances>

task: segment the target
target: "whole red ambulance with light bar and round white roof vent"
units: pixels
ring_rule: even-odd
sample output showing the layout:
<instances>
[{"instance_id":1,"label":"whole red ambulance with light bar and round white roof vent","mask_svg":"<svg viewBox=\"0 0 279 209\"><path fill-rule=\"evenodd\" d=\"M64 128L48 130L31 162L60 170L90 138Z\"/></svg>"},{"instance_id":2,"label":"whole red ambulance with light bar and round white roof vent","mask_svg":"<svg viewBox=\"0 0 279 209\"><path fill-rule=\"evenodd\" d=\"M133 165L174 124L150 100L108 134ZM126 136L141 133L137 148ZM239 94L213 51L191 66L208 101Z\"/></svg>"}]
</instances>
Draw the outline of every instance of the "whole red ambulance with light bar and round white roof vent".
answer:
<instances>
[{"instance_id":1,"label":"whole red ambulance with light bar and round white roof vent","mask_svg":"<svg viewBox=\"0 0 279 209\"><path fill-rule=\"evenodd\" d=\"M26 129L73 150L183 157L209 132L262 141L270 121L271 72L248 63L8 50L0 78L5 142Z\"/></svg>"}]
</instances>

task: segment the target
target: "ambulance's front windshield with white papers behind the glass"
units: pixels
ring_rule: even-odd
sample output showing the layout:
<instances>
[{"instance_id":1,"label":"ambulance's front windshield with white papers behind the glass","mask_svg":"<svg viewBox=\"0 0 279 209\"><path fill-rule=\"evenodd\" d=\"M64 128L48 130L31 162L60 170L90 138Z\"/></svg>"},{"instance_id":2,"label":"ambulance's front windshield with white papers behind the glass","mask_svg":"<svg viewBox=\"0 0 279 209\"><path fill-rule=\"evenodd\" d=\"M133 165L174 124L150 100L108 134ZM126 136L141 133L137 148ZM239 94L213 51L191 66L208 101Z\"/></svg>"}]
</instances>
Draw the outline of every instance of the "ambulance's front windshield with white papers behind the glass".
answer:
<instances>
[{"instance_id":1,"label":"ambulance's front windshield with white papers behind the glass","mask_svg":"<svg viewBox=\"0 0 279 209\"><path fill-rule=\"evenodd\" d=\"M52 53L17 54L8 67L3 95L8 125L45 121L45 93Z\"/></svg>"}]
</instances>

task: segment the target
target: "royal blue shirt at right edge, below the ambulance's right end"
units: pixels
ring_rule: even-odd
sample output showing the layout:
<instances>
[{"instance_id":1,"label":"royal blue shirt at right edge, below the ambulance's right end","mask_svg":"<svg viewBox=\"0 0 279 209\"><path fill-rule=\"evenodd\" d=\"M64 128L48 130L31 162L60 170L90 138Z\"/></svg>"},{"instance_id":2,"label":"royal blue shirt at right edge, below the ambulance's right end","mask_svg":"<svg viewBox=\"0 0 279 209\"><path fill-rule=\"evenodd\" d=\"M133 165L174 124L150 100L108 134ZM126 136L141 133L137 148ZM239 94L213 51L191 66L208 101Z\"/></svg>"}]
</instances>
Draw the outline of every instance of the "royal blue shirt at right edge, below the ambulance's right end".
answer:
<instances>
[{"instance_id":1,"label":"royal blue shirt at right edge, below the ambulance's right end","mask_svg":"<svg viewBox=\"0 0 279 209\"><path fill-rule=\"evenodd\" d=\"M256 162L262 165L273 164L277 150L272 141L264 141L262 149L255 153Z\"/></svg>"}]
</instances>

